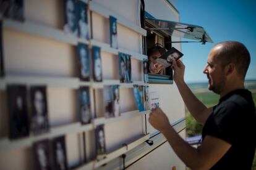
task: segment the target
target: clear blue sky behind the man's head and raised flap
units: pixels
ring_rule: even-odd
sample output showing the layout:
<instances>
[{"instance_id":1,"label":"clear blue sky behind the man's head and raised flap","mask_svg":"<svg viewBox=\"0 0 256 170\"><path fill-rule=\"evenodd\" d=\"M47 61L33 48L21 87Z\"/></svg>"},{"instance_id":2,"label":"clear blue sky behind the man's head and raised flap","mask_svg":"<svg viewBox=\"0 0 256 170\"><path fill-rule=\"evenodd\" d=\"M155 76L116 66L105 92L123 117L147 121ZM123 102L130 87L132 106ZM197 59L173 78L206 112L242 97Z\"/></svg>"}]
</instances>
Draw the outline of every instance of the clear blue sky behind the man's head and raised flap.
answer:
<instances>
[{"instance_id":1,"label":"clear blue sky behind the man's head and raised flap","mask_svg":"<svg viewBox=\"0 0 256 170\"><path fill-rule=\"evenodd\" d=\"M176 0L180 21L205 28L214 43L182 43L187 83L207 81L202 73L208 52L221 41L242 42L251 62L245 79L256 79L256 1L255 0ZM187 39L183 39L187 40Z\"/></svg>"}]
</instances>

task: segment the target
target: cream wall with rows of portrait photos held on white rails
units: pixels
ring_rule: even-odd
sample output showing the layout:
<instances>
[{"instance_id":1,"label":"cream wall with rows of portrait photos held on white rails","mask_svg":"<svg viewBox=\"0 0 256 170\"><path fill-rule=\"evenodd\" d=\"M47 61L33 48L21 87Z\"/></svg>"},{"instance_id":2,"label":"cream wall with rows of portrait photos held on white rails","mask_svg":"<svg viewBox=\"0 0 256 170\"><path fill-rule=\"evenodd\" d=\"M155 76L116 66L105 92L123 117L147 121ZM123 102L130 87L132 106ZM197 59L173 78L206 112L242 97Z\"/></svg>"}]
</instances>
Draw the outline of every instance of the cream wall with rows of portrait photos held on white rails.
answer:
<instances>
[{"instance_id":1,"label":"cream wall with rows of portrait photos held on white rails","mask_svg":"<svg viewBox=\"0 0 256 170\"><path fill-rule=\"evenodd\" d=\"M109 153L145 136L147 56L135 22L138 2L126 2L134 13L122 17L139 31L114 12L97 12L97 1L0 1L4 169L73 169L92 161L100 167Z\"/></svg>"}]
</instances>

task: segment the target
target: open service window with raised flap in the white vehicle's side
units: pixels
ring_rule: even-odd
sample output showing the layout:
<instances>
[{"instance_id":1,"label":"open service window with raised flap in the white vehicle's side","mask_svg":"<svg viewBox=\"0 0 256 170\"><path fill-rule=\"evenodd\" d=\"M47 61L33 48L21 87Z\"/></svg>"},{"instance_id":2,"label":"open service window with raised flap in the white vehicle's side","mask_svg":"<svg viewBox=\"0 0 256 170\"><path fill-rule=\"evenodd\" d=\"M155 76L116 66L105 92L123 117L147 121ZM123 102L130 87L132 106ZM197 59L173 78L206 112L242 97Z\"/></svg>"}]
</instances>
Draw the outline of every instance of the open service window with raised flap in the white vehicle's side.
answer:
<instances>
[{"instance_id":1,"label":"open service window with raised flap in the white vehicle's side","mask_svg":"<svg viewBox=\"0 0 256 170\"><path fill-rule=\"evenodd\" d=\"M159 67L154 60L163 55L164 52L161 49L168 51L173 43L200 42L205 44L206 42L213 42L202 26L159 20L147 17L147 15L144 19L147 37L143 39L143 48L145 54L148 55L149 83L173 84L173 70L171 67L163 68L157 73L151 69ZM190 39L190 41L172 41L173 36Z\"/></svg>"}]
</instances>

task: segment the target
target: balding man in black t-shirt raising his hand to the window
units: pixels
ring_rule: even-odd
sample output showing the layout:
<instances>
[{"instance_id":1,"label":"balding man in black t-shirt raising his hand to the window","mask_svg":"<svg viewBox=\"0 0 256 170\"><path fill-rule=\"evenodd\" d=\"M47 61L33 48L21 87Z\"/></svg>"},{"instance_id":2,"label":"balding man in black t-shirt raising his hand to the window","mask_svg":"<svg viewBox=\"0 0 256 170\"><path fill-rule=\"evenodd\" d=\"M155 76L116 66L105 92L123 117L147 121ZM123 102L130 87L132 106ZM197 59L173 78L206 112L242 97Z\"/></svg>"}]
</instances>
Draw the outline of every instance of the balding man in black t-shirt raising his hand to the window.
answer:
<instances>
[{"instance_id":1,"label":"balding man in black t-shirt raising his hand to the window","mask_svg":"<svg viewBox=\"0 0 256 170\"><path fill-rule=\"evenodd\" d=\"M220 102L207 108L184 82L185 66L173 61L174 81L188 110L203 124L202 144L191 147L171 127L161 108L148 121L168 140L177 156L191 169L251 169L256 147L256 113L252 94L244 89L250 54L244 44L225 41L208 55L203 73L208 89Z\"/></svg>"}]
</instances>

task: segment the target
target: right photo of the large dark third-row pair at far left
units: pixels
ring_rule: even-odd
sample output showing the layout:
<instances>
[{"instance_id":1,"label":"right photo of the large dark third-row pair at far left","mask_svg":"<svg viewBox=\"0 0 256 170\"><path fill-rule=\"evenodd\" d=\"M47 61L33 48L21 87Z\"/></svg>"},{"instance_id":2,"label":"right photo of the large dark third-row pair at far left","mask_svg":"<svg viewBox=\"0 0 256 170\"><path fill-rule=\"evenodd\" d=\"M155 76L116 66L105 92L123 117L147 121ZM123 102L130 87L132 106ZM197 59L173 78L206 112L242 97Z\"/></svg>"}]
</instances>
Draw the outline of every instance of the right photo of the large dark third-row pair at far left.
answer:
<instances>
[{"instance_id":1,"label":"right photo of the large dark third-row pair at far left","mask_svg":"<svg viewBox=\"0 0 256 170\"><path fill-rule=\"evenodd\" d=\"M47 96L45 86L33 86L30 89L32 103L32 131L41 134L49 131Z\"/></svg>"}]
</instances>

